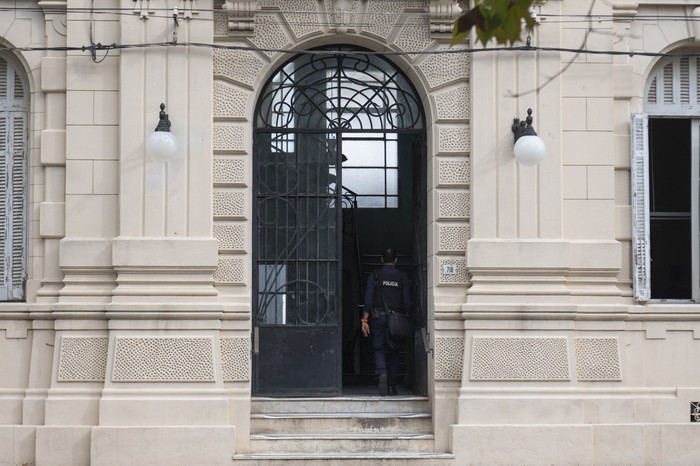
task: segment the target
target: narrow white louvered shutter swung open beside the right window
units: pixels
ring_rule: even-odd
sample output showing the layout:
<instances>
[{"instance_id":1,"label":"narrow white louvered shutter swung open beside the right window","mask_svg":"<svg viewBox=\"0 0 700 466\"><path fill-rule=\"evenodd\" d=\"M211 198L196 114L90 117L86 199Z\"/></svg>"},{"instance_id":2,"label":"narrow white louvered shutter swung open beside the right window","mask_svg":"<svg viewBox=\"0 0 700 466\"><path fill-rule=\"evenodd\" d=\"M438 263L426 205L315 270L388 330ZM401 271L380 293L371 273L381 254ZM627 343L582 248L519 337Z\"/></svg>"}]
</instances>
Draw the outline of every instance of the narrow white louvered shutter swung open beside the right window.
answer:
<instances>
[{"instance_id":1,"label":"narrow white louvered shutter swung open beside the right window","mask_svg":"<svg viewBox=\"0 0 700 466\"><path fill-rule=\"evenodd\" d=\"M632 115L632 280L635 301L651 297L649 251L649 118Z\"/></svg>"}]
</instances>

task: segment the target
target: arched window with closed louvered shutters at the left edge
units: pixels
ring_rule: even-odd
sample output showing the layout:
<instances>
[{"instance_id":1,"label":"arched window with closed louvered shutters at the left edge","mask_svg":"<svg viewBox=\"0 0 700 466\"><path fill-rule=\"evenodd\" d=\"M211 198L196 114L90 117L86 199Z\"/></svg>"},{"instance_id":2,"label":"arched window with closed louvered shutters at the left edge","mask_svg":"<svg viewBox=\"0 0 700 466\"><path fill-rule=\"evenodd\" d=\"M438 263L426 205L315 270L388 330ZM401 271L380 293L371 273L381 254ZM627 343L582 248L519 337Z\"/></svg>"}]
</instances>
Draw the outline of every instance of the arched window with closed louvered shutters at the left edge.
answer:
<instances>
[{"instance_id":1,"label":"arched window with closed louvered shutters at the left edge","mask_svg":"<svg viewBox=\"0 0 700 466\"><path fill-rule=\"evenodd\" d=\"M24 299L27 270L27 122L22 71L0 55L0 301Z\"/></svg>"}]
</instances>

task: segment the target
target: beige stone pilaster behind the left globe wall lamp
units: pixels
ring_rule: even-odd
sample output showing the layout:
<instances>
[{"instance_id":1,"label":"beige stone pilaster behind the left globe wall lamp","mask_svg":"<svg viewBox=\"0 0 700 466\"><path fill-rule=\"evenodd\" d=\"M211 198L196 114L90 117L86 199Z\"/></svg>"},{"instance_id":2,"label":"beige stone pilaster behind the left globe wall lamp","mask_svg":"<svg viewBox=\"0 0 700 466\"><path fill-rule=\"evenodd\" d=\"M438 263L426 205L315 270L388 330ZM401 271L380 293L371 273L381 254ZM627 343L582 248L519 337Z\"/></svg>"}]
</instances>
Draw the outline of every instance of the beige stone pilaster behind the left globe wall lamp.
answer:
<instances>
[{"instance_id":1,"label":"beige stone pilaster behind the left globe wall lamp","mask_svg":"<svg viewBox=\"0 0 700 466\"><path fill-rule=\"evenodd\" d=\"M180 2L162 0L154 9ZM123 1L122 6L132 2ZM148 43L213 40L212 13L182 11L121 20L122 37ZM119 235L112 259L113 304L215 302L218 263L212 233L212 54L208 49L152 47L125 50L120 83ZM144 143L161 103L177 140L176 155L151 161ZM206 104L205 104L206 103ZM184 251L184 252L183 252Z\"/></svg>"}]
</instances>

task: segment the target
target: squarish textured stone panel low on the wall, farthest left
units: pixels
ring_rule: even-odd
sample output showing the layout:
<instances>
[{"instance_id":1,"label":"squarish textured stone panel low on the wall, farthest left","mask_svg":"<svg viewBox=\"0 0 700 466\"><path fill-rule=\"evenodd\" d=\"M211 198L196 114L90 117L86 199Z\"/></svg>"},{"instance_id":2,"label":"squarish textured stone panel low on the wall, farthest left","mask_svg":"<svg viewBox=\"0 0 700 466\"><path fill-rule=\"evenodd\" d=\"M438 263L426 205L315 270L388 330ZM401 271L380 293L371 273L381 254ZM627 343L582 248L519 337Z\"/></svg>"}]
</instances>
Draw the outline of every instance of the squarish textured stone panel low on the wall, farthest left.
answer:
<instances>
[{"instance_id":1,"label":"squarish textured stone panel low on the wall, farthest left","mask_svg":"<svg viewBox=\"0 0 700 466\"><path fill-rule=\"evenodd\" d=\"M108 346L107 337L63 337L58 361L58 381L103 382Z\"/></svg>"}]
</instances>

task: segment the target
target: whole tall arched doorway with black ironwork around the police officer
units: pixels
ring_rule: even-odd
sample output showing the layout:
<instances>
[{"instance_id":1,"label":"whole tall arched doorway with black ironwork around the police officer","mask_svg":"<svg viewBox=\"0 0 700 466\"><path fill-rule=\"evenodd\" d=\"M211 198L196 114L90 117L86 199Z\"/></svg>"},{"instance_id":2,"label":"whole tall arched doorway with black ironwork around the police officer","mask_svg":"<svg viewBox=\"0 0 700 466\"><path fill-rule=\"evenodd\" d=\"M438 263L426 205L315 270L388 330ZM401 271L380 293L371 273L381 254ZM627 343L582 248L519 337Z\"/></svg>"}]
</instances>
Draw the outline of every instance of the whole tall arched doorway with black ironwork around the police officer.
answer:
<instances>
[{"instance_id":1,"label":"whole tall arched doorway with black ironwork around the police officer","mask_svg":"<svg viewBox=\"0 0 700 466\"><path fill-rule=\"evenodd\" d=\"M336 395L371 384L359 305L383 247L411 272L425 327L425 121L388 60L352 47L282 65L255 113L253 391ZM421 339L406 385L425 390Z\"/></svg>"}]
</instances>

